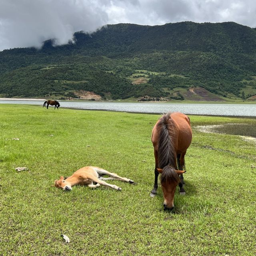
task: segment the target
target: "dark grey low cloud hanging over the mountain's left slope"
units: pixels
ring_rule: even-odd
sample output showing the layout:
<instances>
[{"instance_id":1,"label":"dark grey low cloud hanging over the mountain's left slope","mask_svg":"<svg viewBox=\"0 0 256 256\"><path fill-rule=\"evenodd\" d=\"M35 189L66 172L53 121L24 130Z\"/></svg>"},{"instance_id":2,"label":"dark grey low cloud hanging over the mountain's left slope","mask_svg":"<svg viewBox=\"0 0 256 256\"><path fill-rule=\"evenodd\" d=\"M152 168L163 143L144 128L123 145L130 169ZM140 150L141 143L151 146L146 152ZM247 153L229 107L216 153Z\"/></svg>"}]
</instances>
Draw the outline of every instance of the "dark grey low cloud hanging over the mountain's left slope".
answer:
<instances>
[{"instance_id":1,"label":"dark grey low cloud hanging over the mountain's left slope","mask_svg":"<svg viewBox=\"0 0 256 256\"><path fill-rule=\"evenodd\" d=\"M108 21L97 1L2 0L0 49L40 47L56 38L58 44L72 39L76 31L94 31Z\"/></svg>"}]
</instances>

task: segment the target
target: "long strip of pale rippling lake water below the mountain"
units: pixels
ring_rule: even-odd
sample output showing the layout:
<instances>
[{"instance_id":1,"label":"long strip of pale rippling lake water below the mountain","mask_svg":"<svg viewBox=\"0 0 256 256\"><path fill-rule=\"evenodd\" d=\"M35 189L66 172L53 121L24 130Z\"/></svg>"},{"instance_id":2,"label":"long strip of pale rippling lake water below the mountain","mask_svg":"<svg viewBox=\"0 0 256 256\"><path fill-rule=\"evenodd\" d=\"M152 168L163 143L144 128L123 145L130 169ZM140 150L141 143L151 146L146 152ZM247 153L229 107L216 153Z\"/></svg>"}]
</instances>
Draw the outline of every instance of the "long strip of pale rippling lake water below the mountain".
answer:
<instances>
[{"instance_id":1,"label":"long strip of pale rippling lake water below the mountain","mask_svg":"<svg viewBox=\"0 0 256 256\"><path fill-rule=\"evenodd\" d=\"M175 104L175 103L146 103L146 102L85 102L85 101L59 101L60 107L77 108L87 110L110 110L137 113L162 114L168 111L183 112L185 114L196 115L216 115L216 116L256 116L256 104ZM32 104L43 105L43 101L38 100L0 100L1 103L8 104ZM49 106L49 108L53 108Z\"/></svg>"}]
</instances>

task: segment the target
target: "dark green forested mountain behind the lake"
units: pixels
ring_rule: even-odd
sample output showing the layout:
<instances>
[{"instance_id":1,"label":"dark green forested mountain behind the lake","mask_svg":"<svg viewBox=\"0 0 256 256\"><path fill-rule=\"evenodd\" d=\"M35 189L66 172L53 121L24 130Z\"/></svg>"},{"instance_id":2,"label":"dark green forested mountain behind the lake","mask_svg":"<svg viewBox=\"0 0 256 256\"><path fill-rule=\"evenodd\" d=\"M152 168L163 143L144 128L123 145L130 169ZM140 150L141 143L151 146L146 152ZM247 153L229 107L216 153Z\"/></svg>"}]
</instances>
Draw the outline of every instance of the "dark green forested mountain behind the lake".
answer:
<instances>
[{"instance_id":1,"label":"dark green forested mountain behind the lake","mask_svg":"<svg viewBox=\"0 0 256 256\"><path fill-rule=\"evenodd\" d=\"M196 89L197 88L197 89ZM256 94L256 29L234 22L106 25L0 52L0 95L223 100ZM145 98L146 97L146 98Z\"/></svg>"}]
</instances>

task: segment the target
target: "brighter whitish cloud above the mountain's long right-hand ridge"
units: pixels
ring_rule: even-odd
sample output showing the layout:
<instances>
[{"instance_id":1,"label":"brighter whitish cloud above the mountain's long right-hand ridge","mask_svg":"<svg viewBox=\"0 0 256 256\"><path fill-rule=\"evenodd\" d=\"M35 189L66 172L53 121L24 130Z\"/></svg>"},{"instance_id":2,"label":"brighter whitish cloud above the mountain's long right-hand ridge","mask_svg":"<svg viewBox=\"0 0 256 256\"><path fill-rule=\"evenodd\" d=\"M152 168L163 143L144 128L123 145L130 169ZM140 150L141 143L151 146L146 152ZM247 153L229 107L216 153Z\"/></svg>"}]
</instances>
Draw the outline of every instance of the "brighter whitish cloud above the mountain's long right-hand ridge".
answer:
<instances>
[{"instance_id":1,"label":"brighter whitish cloud above the mountain's long right-hand ridge","mask_svg":"<svg viewBox=\"0 0 256 256\"><path fill-rule=\"evenodd\" d=\"M112 0L111 3L107 11L108 21L113 24L234 21L250 27L256 26L255 0Z\"/></svg>"}]
</instances>

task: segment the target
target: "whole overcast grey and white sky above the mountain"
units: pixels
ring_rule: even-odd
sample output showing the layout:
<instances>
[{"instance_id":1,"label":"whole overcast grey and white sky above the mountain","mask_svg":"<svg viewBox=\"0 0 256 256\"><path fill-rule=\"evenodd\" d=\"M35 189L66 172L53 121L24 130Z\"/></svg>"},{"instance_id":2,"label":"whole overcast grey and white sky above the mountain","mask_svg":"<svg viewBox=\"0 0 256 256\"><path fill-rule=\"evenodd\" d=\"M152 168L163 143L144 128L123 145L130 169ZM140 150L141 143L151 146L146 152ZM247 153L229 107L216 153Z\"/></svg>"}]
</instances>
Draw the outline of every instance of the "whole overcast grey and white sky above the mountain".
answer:
<instances>
[{"instance_id":1,"label":"whole overcast grey and white sky above the mountain","mask_svg":"<svg viewBox=\"0 0 256 256\"><path fill-rule=\"evenodd\" d=\"M106 24L162 25L181 21L256 27L256 0L0 0L0 50L58 44L76 31Z\"/></svg>"}]
</instances>

